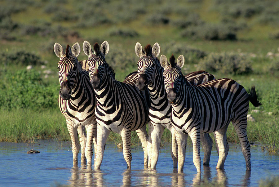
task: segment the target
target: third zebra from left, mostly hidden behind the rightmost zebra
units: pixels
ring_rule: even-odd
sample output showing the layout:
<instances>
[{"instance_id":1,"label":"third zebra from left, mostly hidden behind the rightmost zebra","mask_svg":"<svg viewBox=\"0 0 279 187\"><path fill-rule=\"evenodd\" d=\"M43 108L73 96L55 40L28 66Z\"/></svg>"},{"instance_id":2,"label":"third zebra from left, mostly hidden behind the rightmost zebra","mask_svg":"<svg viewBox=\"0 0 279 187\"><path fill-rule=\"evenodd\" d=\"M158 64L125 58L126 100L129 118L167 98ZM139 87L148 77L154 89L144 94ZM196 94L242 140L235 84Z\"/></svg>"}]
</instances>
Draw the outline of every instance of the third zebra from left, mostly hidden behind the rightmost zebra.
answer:
<instances>
[{"instance_id":1,"label":"third zebra from left, mostly hidden behind the rightmost zebra","mask_svg":"<svg viewBox=\"0 0 279 187\"><path fill-rule=\"evenodd\" d=\"M137 86L140 90L145 90L148 87L150 94L149 119L151 126L151 168L155 169L158 161L158 152L160 142L165 128L171 131L172 135L172 151L173 167L177 168L177 142L175 139L175 128L170 122L171 105L168 102L166 90L164 87L163 71L160 61L157 58L160 53L160 46L155 43L153 47L150 44L144 47L144 50L139 42L135 45L135 53L139 57L138 65L138 80ZM205 71L197 71L189 73L185 76L190 84L201 84L215 79L213 75ZM150 132L149 132L150 134ZM212 149L212 139L209 134L202 134L201 141L205 150L203 164L209 165L210 154ZM150 144L148 144L150 145Z\"/></svg>"}]
</instances>

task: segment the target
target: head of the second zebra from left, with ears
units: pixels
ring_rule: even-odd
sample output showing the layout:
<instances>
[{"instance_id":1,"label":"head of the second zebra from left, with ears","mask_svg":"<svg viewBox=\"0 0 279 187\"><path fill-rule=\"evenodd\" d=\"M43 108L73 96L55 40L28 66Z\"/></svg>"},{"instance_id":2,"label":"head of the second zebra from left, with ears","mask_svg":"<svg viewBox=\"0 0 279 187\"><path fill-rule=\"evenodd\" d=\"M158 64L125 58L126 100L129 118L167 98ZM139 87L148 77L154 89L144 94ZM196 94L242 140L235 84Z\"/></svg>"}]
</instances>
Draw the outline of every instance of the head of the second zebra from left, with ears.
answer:
<instances>
[{"instance_id":1,"label":"head of the second zebra from left, with ears","mask_svg":"<svg viewBox=\"0 0 279 187\"><path fill-rule=\"evenodd\" d=\"M107 41L104 41L101 45L101 49L98 43L95 43L93 50L89 42L83 42L83 51L88 56L89 76L92 87L95 89L100 88L105 72L105 56L108 54L109 45Z\"/></svg>"}]
</instances>

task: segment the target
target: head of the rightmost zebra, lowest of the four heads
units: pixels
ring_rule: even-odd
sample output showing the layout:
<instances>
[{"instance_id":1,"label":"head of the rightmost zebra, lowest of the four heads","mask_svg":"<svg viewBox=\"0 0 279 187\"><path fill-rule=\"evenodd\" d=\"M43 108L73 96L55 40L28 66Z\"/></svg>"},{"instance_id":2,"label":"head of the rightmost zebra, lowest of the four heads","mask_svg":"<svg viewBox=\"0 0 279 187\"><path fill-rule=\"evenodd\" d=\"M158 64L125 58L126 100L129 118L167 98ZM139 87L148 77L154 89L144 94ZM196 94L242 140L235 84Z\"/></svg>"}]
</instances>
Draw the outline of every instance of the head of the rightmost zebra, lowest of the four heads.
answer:
<instances>
[{"instance_id":1,"label":"head of the rightmost zebra, lowest of the four heads","mask_svg":"<svg viewBox=\"0 0 279 187\"><path fill-rule=\"evenodd\" d=\"M167 98L171 104L174 104L178 97L178 91L184 76L181 73L181 68L184 65L184 56L180 55L175 63L175 57L170 57L170 63L166 56L161 55L160 64L164 68L164 79Z\"/></svg>"}]
</instances>

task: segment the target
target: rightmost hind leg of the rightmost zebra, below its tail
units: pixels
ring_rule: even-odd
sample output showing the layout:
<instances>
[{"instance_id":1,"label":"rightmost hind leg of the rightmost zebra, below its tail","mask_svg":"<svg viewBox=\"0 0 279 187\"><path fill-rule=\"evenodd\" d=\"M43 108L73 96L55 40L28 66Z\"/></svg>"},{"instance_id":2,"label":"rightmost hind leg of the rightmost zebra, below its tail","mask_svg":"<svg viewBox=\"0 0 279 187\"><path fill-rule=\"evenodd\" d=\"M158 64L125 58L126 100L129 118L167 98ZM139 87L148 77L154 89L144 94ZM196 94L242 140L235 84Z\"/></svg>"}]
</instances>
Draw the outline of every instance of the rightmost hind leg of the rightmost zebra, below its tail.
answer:
<instances>
[{"instance_id":1,"label":"rightmost hind leg of the rightmost zebra, below its tail","mask_svg":"<svg viewBox=\"0 0 279 187\"><path fill-rule=\"evenodd\" d=\"M240 140L241 151L245 158L246 169L251 169L251 152L250 152L250 143L247 137L247 113L242 116L242 118L237 118L232 121L234 129L237 131L237 136Z\"/></svg>"}]
</instances>

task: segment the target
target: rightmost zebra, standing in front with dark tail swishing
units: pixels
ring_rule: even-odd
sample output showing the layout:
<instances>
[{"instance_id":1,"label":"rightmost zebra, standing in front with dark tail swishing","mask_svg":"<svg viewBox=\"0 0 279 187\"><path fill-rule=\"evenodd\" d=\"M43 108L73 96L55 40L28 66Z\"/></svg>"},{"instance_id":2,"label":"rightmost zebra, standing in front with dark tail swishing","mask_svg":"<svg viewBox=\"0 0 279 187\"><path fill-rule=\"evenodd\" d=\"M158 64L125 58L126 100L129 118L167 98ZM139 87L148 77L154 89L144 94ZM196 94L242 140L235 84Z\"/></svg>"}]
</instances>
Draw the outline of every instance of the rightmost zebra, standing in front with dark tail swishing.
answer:
<instances>
[{"instance_id":1,"label":"rightmost zebra, standing in front with dark tail swishing","mask_svg":"<svg viewBox=\"0 0 279 187\"><path fill-rule=\"evenodd\" d=\"M219 160L216 168L223 168L228 154L226 131L230 122L234 126L241 143L246 161L246 170L251 169L250 143L248 141L247 112L249 100L260 106L255 86L248 92L236 81L228 78L215 79L201 85L190 85L181 73L184 56L160 57L164 68L164 83L169 102L172 105L171 122L176 130L179 147L178 170L183 171L185 147L181 146L188 135L193 142L193 162L197 172L201 172L200 135L215 132Z\"/></svg>"}]
</instances>

